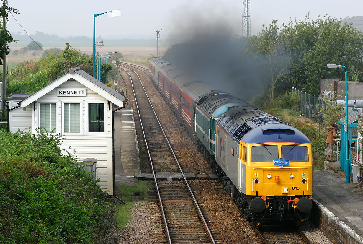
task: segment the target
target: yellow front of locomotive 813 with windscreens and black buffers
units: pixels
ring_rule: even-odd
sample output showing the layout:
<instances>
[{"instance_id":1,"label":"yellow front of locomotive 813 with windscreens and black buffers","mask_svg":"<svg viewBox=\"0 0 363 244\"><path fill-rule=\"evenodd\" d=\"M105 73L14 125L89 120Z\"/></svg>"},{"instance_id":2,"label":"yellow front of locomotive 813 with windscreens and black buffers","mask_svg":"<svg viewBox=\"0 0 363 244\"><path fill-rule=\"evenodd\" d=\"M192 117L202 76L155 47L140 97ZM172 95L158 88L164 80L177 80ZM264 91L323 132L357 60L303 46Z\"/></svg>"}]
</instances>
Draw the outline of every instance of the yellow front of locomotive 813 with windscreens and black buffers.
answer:
<instances>
[{"instance_id":1,"label":"yellow front of locomotive 813 with windscreens and black buffers","mask_svg":"<svg viewBox=\"0 0 363 244\"><path fill-rule=\"evenodd\" d=\"M245 164L245 216L259 222L266 217L307 219L312 202L311 143L240 143Z\"/></svg>"}]
</instances>

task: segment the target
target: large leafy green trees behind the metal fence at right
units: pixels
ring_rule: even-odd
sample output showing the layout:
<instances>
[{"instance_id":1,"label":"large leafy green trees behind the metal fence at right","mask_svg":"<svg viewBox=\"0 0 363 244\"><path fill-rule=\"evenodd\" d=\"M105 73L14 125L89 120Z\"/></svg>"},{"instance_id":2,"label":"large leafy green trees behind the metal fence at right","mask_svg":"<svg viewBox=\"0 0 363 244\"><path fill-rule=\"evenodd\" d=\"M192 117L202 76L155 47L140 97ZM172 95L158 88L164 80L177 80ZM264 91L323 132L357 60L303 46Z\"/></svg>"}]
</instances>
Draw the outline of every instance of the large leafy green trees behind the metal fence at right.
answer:
<instances>
[{"instance_id":1,"label":"large leafy green trees behind the metal fence at right","mask_svg":"<svg viewBox=\"0 0 363 244\"><path fill-rule=\"evenodd\" d=\"M280 50L272 52L272 57L284 55L289 59L289 65L288 69L280 65L281 73L275 76L275 85L272 84L273 80L270 81L270 91L278 88L278 92L284 93L295 87L318 95L319 78L340 77L345 80L341 70L326 68L329 63L346 66L348 79L357 78L363 60L363 33L356 31L351 24L342 25L341 20L327 15L319 16L316 21L310 20L307 15L305 20L290 20L281 26L273 21L268 29L254 35L246 43L246 52L251 56L271 56L270 50L274 48ZM271 92L270 97L273 97Z\"/></svg>"}]
</instances>

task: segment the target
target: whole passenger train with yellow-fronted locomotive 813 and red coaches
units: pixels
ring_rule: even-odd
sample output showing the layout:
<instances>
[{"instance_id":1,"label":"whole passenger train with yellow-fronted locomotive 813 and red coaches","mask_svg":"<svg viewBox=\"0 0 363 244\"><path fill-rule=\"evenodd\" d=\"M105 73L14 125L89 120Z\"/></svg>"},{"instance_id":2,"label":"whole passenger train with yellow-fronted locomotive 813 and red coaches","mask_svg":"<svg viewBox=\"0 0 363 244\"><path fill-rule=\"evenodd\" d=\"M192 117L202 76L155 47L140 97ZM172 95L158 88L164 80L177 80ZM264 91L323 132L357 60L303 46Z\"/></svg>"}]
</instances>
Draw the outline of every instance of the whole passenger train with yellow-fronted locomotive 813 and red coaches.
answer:
<instances>
[{"instance_id":1,"label":"whole passenger train with yellow-fronted locomotive 813 and red coaches","mask_svg":"<svg viewBox=\"0 0 363 244\"><path fill-rule=\"evenodd\" d=\"M313 159L301 131L162 58L152 58L149 71L246 219L257 226L309 217Z\"/></svg>"}]
</instances>

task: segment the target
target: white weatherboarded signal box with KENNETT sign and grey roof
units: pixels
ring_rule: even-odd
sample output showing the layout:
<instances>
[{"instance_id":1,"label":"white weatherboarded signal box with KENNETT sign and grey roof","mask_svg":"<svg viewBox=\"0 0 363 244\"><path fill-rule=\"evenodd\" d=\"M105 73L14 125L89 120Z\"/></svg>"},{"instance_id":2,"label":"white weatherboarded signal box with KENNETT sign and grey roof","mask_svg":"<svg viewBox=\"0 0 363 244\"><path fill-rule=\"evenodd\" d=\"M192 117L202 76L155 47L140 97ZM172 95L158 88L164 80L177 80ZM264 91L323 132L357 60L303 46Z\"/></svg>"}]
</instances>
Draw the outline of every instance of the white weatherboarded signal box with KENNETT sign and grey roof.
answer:
<instances>
[{"instance_id":1,"label":"white weatherboarded signal box with KENNETT sign and grey roof","mask_svg":"<svg viewBox=\"0 0 363 244\"><path fill-rule=\"evenodd\" d=\"M125 97L76 67L33 94L7 98L10 131L52 131L80 161L97 159L96 177L113 195L113 110Z\"/></svg>"}]
</instances>

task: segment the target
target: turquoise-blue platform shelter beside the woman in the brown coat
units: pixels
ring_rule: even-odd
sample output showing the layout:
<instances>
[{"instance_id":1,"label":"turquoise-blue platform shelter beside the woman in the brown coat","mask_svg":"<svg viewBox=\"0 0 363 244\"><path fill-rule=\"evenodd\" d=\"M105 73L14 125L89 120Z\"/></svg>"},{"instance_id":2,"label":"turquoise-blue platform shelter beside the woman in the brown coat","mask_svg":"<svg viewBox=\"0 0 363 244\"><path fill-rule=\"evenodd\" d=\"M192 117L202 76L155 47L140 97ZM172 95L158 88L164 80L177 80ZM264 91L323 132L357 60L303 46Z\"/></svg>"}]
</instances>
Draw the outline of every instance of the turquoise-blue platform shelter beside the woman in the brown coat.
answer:
<instances>
[{"instance_id":1,"label":"turquoise-blue platform shelter beside the woman in the brown coat","mask_svg":"<svg viewBox=\"0 0 363 244\"><path fill-rule=\"evenodd\" d=\"M348 154L349 157L349 167L348 167L348 174L351 175L351 162L357 162L361 159L352 159L352 152L354 152L354 157L356 153L358 153L359 158L359 150L360 150L360 141L358 138L358 116L362 115L362 111L352 111L348 114L348 125L347 125L347 117L344 116L343 118L338 120L338 124L340 125L340 150L338 150L338 154L340 154L340 168L346 172L344 161L346 159L346 155ZM339 141L339 140L338 140ZM346 151L346 146L348 145L348 151ZM358 151L356 146L358 147Z\"/></svg>"}]
</instances>

